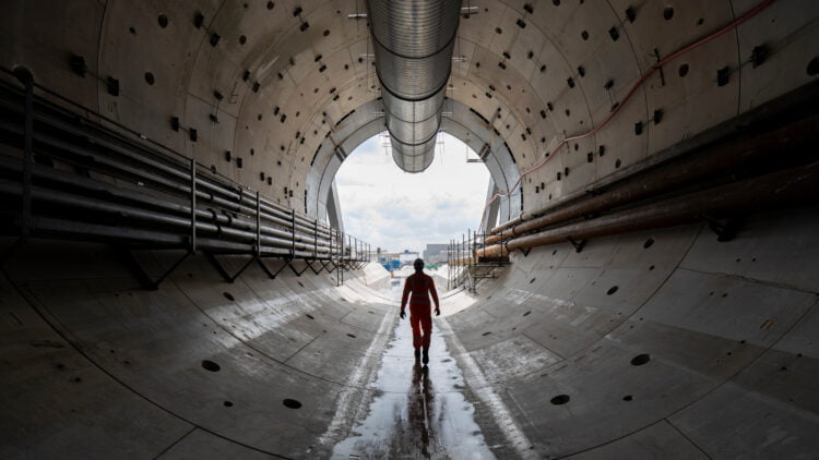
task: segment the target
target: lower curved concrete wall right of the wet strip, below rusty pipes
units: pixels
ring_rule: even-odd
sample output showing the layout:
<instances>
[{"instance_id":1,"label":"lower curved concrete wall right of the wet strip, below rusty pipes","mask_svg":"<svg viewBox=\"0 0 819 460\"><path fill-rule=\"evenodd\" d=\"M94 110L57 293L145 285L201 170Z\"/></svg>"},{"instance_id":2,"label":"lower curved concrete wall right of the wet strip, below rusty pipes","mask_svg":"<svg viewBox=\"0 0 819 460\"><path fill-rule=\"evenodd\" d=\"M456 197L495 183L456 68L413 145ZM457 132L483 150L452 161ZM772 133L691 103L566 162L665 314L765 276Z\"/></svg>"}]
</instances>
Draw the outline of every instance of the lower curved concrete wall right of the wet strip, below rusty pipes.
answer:
<instances>
[{"instance_id":1,"label":"lower curved concrete wall right of the wet strip, below rusty pipes","mask_svg":"<svg viewBox=\"0 0 819 460\"><path fill-rule=\"evenodd\" d=\"M726 243L688 226L515 255L444 318L479 415L500 398L543 458L812 457L816 211Z\"/></svg>"}]
</instances>

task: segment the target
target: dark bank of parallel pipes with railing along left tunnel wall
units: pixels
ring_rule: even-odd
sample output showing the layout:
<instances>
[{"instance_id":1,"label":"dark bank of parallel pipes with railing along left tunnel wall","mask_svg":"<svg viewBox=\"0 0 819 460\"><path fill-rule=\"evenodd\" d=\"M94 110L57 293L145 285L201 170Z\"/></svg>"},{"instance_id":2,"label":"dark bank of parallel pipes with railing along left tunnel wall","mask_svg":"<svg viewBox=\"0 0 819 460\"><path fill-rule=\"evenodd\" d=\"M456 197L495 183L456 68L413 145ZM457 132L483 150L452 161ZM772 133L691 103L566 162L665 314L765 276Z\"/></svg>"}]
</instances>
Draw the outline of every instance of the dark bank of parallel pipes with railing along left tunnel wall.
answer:
<instances>
[{"instance_id":1,"label":"dark bank of parallel pipes with railing along left tunnel wall","mask_svg":"<svg viewBox=\"0 0 819 460\"><path fill-rule=\"evenodd\" d=\"M201 251L228 281L258 262L272 278L284 267L298 276L337 268L341 283L343 269L369 263L367 243L37 85L27 71L0 71L22 84L0 78L0 233ZM230 275L223 254L250 261ZM271 257L284 261L276 271L263 262Z\"/></svg>"}]
</instances>

